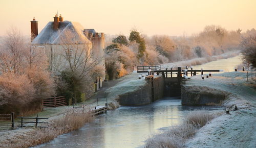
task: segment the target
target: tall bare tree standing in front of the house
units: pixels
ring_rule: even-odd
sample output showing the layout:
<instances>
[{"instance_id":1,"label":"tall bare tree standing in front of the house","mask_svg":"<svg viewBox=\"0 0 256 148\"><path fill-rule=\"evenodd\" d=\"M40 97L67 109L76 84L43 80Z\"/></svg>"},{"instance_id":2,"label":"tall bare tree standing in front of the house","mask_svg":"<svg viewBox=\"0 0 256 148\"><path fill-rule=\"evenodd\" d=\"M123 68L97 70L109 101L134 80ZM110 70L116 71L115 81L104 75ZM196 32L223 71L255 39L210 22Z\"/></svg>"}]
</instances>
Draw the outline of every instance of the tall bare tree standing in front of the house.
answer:
<instances>
[{"instance_id":1,"label":"tall bare tree standing in front of the house","mask_svg":"<svg viewBox=\"0 0 256 148\"><path fill-rule=\"evenodd\" d=\"M72 88L73 101L77 102L80 93L92 89L88 86L96 80L92 75L103 57L93 55L92 42L82 32L78 34L73 30L67 30L61 35L61 48L67 62L66 71L70 75L68 81L71 83L68 85Z\"/></svg>"}]
</instances>

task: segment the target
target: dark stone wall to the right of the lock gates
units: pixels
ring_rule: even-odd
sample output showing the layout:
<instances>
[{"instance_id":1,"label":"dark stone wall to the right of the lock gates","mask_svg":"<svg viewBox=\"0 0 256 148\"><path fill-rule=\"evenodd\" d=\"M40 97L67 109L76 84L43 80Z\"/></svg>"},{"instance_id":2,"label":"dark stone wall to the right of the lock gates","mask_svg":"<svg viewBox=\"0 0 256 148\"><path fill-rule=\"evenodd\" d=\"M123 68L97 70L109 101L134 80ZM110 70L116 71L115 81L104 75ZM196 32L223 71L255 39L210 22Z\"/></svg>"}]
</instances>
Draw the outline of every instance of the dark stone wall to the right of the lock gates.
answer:
<instances>
[{"instance_id":1,"label":"dark stone wall to the right of the lock gates","mask_svg":"<svg viewBox=\"0 0 256 148\"><path fill-rule=\"evenodd\" d=\"M182 105L219 105L228 93L203 86L182 86Z\"/></svg>"}]
</instances>

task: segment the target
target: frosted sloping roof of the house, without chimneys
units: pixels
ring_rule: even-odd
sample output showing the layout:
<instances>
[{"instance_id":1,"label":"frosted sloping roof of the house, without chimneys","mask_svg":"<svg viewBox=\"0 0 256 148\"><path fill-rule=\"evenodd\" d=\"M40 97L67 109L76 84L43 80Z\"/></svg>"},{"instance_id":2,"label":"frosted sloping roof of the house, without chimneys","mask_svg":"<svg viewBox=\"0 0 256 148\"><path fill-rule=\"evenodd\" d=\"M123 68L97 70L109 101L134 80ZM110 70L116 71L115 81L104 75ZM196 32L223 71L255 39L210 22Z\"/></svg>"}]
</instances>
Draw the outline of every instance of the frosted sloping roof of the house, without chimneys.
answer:
<instances>
[{"instance_id":1,"label":"frosted sloping roof of the house, without chimneys","mask_svg":"<svg viewBox=\"0 0 256 148\"><path fill-rule=\"evenodd\" d=\"M68 36L67 36L68 35ZM35 37L32 44L63 44L67 38L70 42L78 44L91 43L83 33L83 27L78 22L61 21L57 30L53 29L53 21L47 23L46 27Z\"/></svg>"}]
</instances>

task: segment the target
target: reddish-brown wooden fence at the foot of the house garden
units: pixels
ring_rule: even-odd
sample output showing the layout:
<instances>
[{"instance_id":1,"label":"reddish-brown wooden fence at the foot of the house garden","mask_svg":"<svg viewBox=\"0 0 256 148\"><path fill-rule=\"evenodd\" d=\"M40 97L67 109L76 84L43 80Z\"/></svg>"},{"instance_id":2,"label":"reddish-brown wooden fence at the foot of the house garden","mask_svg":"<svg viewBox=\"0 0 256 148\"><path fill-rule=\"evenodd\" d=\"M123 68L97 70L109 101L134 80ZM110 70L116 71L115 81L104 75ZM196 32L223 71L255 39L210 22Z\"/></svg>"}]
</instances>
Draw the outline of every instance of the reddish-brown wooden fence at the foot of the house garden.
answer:
<instances>
[{"instance_id":1,"label":"reddish-brown wooden fence at the foot of the house garden","mask_svg":"<svg viewBox=\"0 0 256 148\"><path fill-rule=\"evenodd\" d=\"M47 97L43 101L42 105L46 108L67 106L67 102L65 96Z\"/></svg>"}]
</instances>

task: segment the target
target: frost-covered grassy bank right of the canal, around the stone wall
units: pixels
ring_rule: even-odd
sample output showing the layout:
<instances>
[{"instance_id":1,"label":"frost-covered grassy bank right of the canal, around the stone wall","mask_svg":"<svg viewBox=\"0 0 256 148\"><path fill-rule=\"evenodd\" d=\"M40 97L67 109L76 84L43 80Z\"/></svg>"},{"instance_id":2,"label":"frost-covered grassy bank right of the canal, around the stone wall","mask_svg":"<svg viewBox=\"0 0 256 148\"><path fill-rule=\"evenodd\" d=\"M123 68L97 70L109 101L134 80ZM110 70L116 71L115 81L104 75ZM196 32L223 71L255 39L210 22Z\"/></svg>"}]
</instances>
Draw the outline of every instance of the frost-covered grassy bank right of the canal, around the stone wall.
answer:
<instances>
[{"instance_id":1,"label":"frost-covered grassy bank right of the canal, around the stone wall","mask_svg":"<svg viewBox=\"0 0 256 148\"><path fill-rule=\"evenodd\" d=\"M245 71L218 73L205 80L196 76L186 81L186 86L202 86L226 92L228 97L223 106L229 107L230 115L224 114L213 119L189 139L185 147L255 147L255 75L254 71L251 78L249 73L249 82L246 81ZM234 105L238 111L233 111Z\"/></svg>"}]
</instances>

